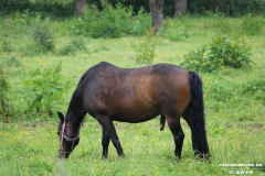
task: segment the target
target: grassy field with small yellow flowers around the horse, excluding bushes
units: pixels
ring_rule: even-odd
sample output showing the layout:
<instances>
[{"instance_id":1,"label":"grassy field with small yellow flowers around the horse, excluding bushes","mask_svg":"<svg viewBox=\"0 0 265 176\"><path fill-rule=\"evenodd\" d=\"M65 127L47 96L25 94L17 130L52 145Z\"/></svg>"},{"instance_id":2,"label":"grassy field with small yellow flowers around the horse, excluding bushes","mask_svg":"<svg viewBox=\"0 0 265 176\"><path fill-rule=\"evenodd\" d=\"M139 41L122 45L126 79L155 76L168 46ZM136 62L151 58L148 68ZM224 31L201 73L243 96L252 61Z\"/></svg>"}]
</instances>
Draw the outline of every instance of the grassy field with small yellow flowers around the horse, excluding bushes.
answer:
<instances>
[{"instance_id":1,"label":"grassy field with small yellow flowers around the horse, excluding bushes","mask_svg":"<svg viewBox=\"0 0 265 176\"><path fill-rule=\"evenodd\" d=\"M240 25L243 18L224 18L225 23ZM121 38L84 37L86 51L60 55L73 38L70 31L73 20L52 21L55 43L53 52L32 52L32 28L17 25L11 16L0 19L0 35L6 41L0 46L0 61L10 84L8 95L12 116L0 122L0 175L265 175L265 41L263 32L247 35L252 48L252 68L222 68L213 73L199 73L204 84L206 133L211 162L198 161L192 151L191 132L181 121L186 134L182 158L177 162L174 143L169 129L159 131L159 119L145 123L115 122L126 158L118 157L109 145L109 157L102 161L102 128L87 117L81 130L81 143L68 160L56 158L59 138L57 117L47 118L26 112L29 108L22 90L24 80L33 70L62 62L63 81L71 88L61 94L64 102L54 102L53 112L66 113L71 96L80 77L91 66L105 61L120 67L139 67L132 45L141 36ZM170 20L168 20L170 21ZM179 65L183 56L202 45L208 45L220 30L215 18L187 16L171 21L188 28L187 37L178 41L159 37L152 62ZM173 31L173 29L172 29ZM3 37L2 37L3 38ZM9 46L11 50L4 48ZM9 61L11 61L11 64ZM32 114L31 114L32 113ZM4 117L1 117L4 118ZM229 167L223 164L254 164L255 166ZM257 165L257 166L256 166ZM233 172L233 173L231 173Z\"/></svg>"}]
</instances>

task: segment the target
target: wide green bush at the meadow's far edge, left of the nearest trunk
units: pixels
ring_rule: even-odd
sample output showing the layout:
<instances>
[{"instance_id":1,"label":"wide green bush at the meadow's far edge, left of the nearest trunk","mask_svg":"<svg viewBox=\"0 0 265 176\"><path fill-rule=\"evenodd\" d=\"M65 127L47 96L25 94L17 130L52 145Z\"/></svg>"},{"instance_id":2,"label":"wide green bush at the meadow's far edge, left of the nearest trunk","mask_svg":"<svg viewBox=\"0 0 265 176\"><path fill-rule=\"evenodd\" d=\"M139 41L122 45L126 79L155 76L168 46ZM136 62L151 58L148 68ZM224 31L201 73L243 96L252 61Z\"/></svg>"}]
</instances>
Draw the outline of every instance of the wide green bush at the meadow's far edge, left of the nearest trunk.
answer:
<instances>
[{"instance_id":1,"label":"wide green bush at the meadow's far edge, left of the nearest trunk","mask_svg":"<svg viewBox=\"0 0 265 176\"><path fill-rule=\"evenodd\" d=\"M88 6L83 18L76 20L72 30L76 34L91 37L120 37L125 34L144 34L151 25L151 19L140 9L138 15L132 18L132 7L124 8L117 3L102 1L104 9L99 11L96 6Z\"/></svg>"}]
</instances>

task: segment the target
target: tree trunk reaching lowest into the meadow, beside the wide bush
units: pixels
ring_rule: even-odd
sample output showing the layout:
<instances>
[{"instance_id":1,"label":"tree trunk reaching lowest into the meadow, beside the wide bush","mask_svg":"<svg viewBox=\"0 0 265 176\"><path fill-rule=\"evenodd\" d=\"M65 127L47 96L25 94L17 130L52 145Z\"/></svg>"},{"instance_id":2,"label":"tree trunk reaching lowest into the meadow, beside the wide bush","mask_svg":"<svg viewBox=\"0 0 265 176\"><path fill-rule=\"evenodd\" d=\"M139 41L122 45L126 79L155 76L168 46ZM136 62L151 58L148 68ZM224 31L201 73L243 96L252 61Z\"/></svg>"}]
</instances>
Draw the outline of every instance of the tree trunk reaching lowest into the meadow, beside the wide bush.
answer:
<instances>
[{"instance_id":1,"label":"tree trunk reaching lowest into the meadow, beside the wide bush","mask_svg":"<svg viewBox=\"0 0 265 176\"><path fill-rule=\"evenodd\" d=\"M163 1L165 0L149 0L149 8L152 18L152 28L155 33L158 32L159 26L163 25Z\"/></svg>"}]
</instances>

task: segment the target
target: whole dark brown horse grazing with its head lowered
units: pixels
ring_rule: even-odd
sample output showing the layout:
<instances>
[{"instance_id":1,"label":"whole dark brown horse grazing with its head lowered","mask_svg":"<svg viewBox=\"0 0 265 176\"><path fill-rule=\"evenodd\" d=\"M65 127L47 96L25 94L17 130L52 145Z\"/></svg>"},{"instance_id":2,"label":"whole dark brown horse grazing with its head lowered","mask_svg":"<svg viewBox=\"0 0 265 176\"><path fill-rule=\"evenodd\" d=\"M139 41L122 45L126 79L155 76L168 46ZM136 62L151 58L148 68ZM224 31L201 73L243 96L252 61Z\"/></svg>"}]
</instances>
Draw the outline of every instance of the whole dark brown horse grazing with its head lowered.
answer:
<instances>
[{"instance_id":1,"label":"whole dark brown horse grazing with its head lowered","mask_svg":"<svg viewBox=\"0 0 265 176\"><path fill-rule=\"evenodd\" d=\"M198 74L171 64L141 68L119 68L102 62L91 67L80 79L64 117L61 120L59 157L68 157L80 142L80 128L88 113L103 128L103 158L108 156L112 140L119 156L125 156L113 121L139 123L161 116L160 130L167 120L173 134L174 154L181 157L184 133L182 117L192 133L195 155L209 156L204 128L202 81Z\"/></svg>"}]
</instances>

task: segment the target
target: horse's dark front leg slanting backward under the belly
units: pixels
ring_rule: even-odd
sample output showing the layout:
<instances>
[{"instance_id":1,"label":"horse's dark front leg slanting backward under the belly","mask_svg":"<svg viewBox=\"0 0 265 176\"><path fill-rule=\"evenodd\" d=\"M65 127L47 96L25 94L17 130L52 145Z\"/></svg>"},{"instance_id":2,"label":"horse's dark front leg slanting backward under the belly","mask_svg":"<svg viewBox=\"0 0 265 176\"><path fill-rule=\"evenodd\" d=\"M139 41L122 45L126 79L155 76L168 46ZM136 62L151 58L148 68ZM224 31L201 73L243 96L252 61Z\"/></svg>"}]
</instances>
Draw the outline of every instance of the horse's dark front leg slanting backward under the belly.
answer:
<instances>
[{"instance_id":1,"label":"horse's dark front leg slanting backward under the belly","mask_svg":"<svg viewBox=\"0 0 265 176\"><path fill-rule=\"evenodd\" d=\"M118 135L117 135L115 127L113 124L113 120L108 116L98 116L96 119L97 119L98 123L103 127L103 129L104 129L103 131L105 131L107 133L108 138L112 140L114 146L117 150L118 155L125 157L124 150L120 145ZM106 140L106 139L104 139L104 140ZM104 148L103 148L103 152L105 152Z\"/></svg>"}]
</instances>

